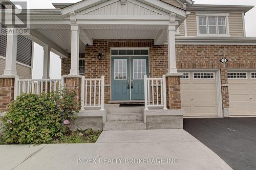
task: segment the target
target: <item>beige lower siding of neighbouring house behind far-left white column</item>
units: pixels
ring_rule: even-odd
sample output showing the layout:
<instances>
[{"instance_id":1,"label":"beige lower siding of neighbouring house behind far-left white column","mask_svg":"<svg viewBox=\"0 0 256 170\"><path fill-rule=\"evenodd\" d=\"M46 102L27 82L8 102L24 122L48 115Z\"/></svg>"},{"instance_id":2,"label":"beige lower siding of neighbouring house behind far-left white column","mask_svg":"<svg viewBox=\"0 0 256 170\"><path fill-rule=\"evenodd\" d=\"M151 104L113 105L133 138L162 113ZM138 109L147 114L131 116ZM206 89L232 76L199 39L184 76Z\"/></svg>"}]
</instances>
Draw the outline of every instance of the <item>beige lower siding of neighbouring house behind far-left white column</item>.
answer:
<instances>
[{"instance_id":1,"label":"beige lower siding of neighbouring house behind far-left white column","mask_svg":"<svg viewBox=\"0 0 256 170\"><path fill-rule=\"evenodd\" d=\"M0 58L0 75L4 74L4 69L5 69L5 59ZM25 79L30 79L31 78L31 68L17 64L16 65L17 69L17 75L20 76L20 78L25 78Z\"/></svg>"}]
</instances>

